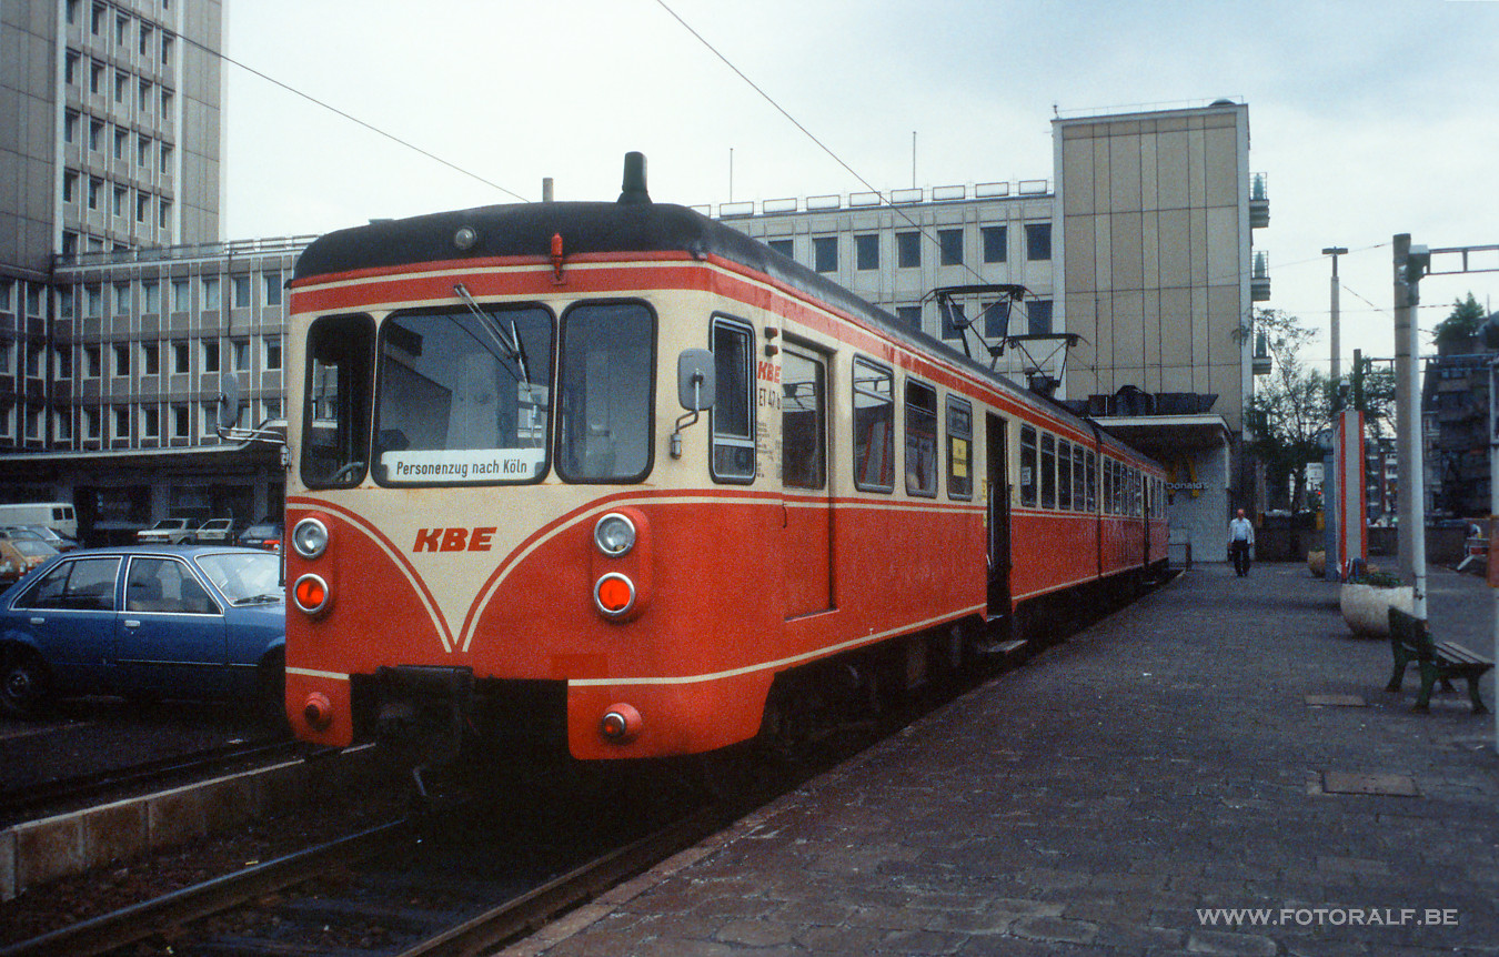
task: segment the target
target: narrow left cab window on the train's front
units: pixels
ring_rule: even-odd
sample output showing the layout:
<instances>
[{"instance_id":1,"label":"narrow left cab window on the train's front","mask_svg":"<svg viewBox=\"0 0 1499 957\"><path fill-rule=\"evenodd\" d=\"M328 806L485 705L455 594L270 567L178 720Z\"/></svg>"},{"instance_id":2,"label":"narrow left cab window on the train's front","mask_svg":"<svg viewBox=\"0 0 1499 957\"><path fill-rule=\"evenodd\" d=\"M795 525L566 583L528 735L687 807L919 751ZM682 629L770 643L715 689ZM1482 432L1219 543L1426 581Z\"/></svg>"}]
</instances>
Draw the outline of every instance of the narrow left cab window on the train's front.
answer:
<instances>
[{"instance_id":1,"label":"narrow left cab window on the train's front","mask_svg":"<svg viewBox=\"0 0 1499 957\"><path fill-rule=\"evenodd\" d=\"M301 410L301 481L307 485L348 488L364 479L373 367L369 316L324 316L307 329Z\"/></svg>"}]
</instances>

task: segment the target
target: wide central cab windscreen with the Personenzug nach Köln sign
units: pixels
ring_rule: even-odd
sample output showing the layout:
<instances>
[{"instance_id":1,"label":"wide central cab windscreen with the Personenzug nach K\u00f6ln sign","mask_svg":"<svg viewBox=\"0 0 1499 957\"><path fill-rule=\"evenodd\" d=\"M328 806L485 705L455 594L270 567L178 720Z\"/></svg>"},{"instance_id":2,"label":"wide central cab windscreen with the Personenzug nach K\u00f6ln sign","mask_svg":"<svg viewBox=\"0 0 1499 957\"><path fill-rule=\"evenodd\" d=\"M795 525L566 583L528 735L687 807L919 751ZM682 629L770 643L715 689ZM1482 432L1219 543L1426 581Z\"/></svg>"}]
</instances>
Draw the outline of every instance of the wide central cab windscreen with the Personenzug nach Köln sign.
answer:
<instances>
[{"instance_id":1,"label":"wide central cab windscreen with the Personenzug nach K\u00f6ln sign","mask_svg":"<svg viewBox=\"0 0 1499 957\"><path fill-rule=\"evenodd\" d=\"M375 481L540 481L552 424L552 328L540 306L388 318L379 332Z\"/></svg>"}]
</instances>

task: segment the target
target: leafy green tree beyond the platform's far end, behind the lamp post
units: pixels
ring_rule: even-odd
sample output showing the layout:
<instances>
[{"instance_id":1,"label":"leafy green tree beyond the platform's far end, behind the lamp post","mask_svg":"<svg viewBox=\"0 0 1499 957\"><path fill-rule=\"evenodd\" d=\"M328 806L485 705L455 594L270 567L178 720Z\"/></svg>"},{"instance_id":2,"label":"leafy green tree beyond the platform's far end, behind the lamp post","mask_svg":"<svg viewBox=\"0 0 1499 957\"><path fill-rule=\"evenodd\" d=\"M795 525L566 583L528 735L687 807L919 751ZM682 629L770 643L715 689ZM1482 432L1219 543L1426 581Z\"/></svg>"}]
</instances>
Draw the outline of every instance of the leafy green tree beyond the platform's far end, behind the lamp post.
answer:
<instances>
[{"instance_id":1,"label":"leafy green tree beyond the platform's far end, behind the lamp post","mask_svg":"<svg viewBox=\"0 0 1499 957\"><path fill-rule=\"evenodd\" d=\"M1316 332L1277 309L1256 310L1253 325L1240 335L1253 334L1271 358L1268 376L1259 380L1249 400L1246 445L1265 469L1270 508L1292 512L1306 509L1307 463L1322 460L1321 433L1328 424L1327 376L1307 368L1300 359L1301 346Z\"/></svg>"}]
</instances>

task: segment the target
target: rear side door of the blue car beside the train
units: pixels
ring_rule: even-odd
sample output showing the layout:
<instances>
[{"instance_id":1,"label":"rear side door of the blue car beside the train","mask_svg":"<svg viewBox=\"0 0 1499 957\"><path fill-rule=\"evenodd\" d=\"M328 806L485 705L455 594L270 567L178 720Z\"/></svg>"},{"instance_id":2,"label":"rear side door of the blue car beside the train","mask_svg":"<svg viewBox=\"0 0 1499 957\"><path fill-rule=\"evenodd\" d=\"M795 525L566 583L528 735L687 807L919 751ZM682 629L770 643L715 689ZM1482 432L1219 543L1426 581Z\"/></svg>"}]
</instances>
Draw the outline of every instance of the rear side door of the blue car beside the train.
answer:
<instances>
[{"instance_id":1,"label":"rear side door of the blue car beside the train","mask_svg":"<svg viewBox=\"0 0 1499 957\"><path fill-rule=\"evenodd\" d=\"M10 626L30 637L58 690L108 684L120 565L118 556L58 562L10 607Z\"/></svg>"}]
</instances>

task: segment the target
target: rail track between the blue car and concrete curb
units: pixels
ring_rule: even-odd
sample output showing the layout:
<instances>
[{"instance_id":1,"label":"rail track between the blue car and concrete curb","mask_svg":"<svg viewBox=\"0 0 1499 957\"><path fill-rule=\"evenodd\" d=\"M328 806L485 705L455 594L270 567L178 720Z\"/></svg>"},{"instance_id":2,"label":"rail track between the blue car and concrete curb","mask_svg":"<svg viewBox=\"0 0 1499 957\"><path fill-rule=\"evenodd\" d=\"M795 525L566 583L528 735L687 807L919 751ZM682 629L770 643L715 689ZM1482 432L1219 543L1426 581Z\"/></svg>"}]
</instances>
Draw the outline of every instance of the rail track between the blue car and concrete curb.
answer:
<instances>
[{"instance_id":1,"label":"rail track between the blue car and concrete curb","mask_svg":"<svg viewBox=\"0 0 1499 957\"><path fill-rule=\"evenodd\" d=\"M285 735L274 735L27 785L0 792L0 824L15 824L45 813L73 810L100 798L148 792L255 764L289 759L304 750Z\"/></svg>"}]
</instances>

